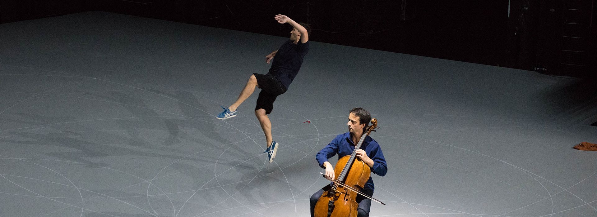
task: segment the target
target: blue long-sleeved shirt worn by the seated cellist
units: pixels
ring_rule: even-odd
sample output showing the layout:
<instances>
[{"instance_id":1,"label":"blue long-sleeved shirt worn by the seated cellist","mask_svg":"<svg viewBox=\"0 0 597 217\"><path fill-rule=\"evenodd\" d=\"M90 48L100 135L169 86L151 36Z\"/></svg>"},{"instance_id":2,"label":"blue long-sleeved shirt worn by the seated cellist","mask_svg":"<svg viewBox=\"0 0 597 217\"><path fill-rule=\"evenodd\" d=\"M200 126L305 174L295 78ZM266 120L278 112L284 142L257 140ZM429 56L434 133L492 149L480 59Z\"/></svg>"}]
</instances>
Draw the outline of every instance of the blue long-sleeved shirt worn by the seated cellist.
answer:
<instances>
[{"instance_id":1,"label":"blue long-sleeved shirt worn by the seated cellist","mask_svg":"<svg viewBox=\"0 0 597 217\"><path fill-rule=\"evenodd\" d=\"M365 150L367 156L374 162L371 172L381 177L386 175L386 158L383 157L383 152L381 152L381 147L377 141L370 136L367 136L365 137L363 144L361 144L361 149ZM321 151L315 155L315 158L317 159L317 162L319 162L319 166L325 169L324 163L334 155L338 154L338 159L340 159L343 156L352 155L354 150L355 143L353 143L350 139L350 133L344 133L336 136L336 138L332 140L330 144L325 146L324 149L321 149ZM340 174L336 174L336 176L338 175ZM365 184L365 188L371 188L371 190L374 189L373 179L371 179L371 177L369 177L369 180Z\"/></svg>"}]
</instances>

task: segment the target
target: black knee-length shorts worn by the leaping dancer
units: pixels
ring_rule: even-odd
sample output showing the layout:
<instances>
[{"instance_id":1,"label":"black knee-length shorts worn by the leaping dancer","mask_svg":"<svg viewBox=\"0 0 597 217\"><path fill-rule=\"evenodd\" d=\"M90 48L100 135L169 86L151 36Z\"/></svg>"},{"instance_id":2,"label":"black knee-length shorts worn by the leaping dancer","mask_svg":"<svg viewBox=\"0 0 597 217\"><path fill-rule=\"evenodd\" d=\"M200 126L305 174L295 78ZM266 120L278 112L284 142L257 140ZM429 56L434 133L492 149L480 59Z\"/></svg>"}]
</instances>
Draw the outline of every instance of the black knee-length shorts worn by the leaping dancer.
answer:
<instances>
[{"instance_id":1,"label":"black knee-length shorts worn by the leaping dancer","mask_svg":"<svg viewBox=\"0 0 597 217\"><path fill-rule=\"evenodd\" d=\"M286 87L278 80L278 78L270 75L253 73L257 78L257 85L259 85L259 97L257 98L257 105L255 111L264 109L265 114L270 114L273 109L273 102L278 95L286 92Z\"/></svg>"}]
</instances>

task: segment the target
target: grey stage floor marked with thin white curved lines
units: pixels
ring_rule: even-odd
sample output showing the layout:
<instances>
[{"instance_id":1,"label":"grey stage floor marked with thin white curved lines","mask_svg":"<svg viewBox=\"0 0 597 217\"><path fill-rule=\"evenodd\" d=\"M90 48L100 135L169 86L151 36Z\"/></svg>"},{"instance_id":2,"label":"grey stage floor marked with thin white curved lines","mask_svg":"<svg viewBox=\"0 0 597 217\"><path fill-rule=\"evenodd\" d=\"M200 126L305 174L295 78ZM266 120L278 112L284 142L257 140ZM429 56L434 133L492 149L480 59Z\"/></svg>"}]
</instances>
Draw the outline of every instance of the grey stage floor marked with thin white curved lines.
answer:
<instances>
[{"instance_id":1,"label":"grey stage floor marked with thin white curved lines","mask_svg":"<svg viewBox=\"0 0 597 217\"><path fill-rule=\"evenodd\" d=\"M97 11L1 28L2 216L308 216L356 106L389 167L371 216L597 215L577 79L311 42L267 163L257 93L214 115L284 37Z\"/></svg>"}]
</instances>

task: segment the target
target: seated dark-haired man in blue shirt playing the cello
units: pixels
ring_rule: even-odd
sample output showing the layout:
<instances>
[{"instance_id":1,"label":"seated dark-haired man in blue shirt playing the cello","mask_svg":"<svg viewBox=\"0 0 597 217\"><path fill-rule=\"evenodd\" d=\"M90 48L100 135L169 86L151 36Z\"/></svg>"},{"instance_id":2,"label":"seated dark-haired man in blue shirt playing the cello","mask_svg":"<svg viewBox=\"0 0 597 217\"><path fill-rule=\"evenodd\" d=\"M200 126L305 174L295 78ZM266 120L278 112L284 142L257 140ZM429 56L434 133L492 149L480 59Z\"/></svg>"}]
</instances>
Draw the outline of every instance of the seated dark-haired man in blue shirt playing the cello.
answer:
<instances>
[{"instance_id":1,"label":"seated dark-haired man in blue shirt playing the cello","mask_svg":"<svg viewBox=\"0 0 597 217\"><path fill-rule=\"evenodd\" d=\"M334 166L328 162L328 159L336 154L338 154L338 159L346 155L351 155L355 150L356 144L361 139L361 136L364 135L366 137L361 144L361 149L356 150L356 158L361 159L361 161L366 163L371 168L371 172L374 174L380 175L382 177L386 175L386 159L383 157L381 147L377 141L365 134L365 130L367 129L368 123L370 121L371 114L369 114L367 110L363 108L353 108L350 110L347 123L349 132L336 136L336 139L332 140L330 144L325 146L324 149L321 149L321 151L319 151L315 156L319 162L319 166L321 166L321 168L325 168L325 178L328 180L334 180L337 175L334 174ZM329 190L331 185L332 184L326 185L324 188L311 196L310 203L312 217L314 216L313 209L315 209L315 204L324 191ZM370 177L364 188L361 190L361 193L367 194L368 196L373 196L373 190L373 180ZM358 195L356 197L356 202L359 203L357 209L358 216L369 216L369 211L371 209L371 199Z\"/></svg>"}]
</instances>

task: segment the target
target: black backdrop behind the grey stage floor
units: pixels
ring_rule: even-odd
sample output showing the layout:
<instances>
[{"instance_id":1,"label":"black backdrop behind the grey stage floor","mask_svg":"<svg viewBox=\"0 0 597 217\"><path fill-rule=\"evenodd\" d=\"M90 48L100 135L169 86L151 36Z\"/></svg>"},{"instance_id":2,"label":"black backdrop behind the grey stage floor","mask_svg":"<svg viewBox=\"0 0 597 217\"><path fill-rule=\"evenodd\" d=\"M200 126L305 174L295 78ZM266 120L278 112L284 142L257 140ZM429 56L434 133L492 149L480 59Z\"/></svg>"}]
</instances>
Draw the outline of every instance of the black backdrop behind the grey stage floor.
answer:
<instances>
[{"instance_id":1,"label":"black backdrop behind the grey stage floor","mask_svg":"<svg viewBox=\"0 0 597 217\"><path fill-rule=\"evenodd\" d=\"M273 20L285 14L310 24L318 42L595 76L595 0L2 0L0 8L2 23L99 10L287 37L290 27ZM581 11L575 31L584 39L575 48L583 51L568 53L580 56L562 51L570 9Z\"/></svg>"}]
</instances>

